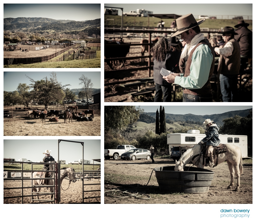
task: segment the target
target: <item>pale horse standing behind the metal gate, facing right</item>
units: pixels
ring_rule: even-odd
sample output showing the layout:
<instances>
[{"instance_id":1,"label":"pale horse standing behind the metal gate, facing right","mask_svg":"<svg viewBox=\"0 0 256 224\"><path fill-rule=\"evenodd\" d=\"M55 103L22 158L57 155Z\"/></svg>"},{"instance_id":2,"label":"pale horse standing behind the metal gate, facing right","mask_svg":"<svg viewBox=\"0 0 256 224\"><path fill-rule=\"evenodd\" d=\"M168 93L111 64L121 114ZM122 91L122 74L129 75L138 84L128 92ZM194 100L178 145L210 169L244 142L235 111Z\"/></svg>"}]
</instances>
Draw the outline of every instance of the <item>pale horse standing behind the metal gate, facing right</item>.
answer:
<instances>
[{"instance_id":1,"label":"pale horse standing behind the metal gate, facing right","mask_svg":"<svg viewBox=\"0 0 256 224\"><path fill-rule=\"evenodd\" d=\"M39 176L36 175L37 172L33 172L33 175L32 175L32 178L40 178ZM70 180L69 180L69 183L70 182L76 182L76 177L75 177L75 171L74 171L74 168L72 167L69 167L69 168L62 168L60 169L60 185L63 181L63 179L65 177L68 177ZM66 179L66 178L65 178ZM47 185L53 185L54 182L53 180L48 180L48 184ZM32 185L40 185L40 179L38 180L32 180ZM40 187L36 187L36 188L32 188L32 192L40 192L41 188ZM50 187L50 192L53 192L53 187ZM38 195L36 196L37 197L37 200L38 200ZM32 196L32 199L34 197ZM51 194L51 200L53 198L53 194Z\"/></svg>"}]
</instances>

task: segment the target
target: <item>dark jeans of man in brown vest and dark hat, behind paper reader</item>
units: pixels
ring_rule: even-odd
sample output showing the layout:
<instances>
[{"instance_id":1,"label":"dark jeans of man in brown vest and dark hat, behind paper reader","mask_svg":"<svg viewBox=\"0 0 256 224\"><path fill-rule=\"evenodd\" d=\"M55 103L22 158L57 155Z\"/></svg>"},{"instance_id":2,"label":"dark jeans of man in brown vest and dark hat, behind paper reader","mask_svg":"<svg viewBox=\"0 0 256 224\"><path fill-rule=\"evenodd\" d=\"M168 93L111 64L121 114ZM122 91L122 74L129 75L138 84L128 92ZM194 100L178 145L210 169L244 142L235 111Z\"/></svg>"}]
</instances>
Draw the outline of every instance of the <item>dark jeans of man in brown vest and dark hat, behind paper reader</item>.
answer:
<instances>
[{"instance_id":1,"label":"dark jeans of man in brown vest and dark hat, behind paper reader","mask_svg":"<svg viewBox=\"0 0 256 224\"><path fill-rule=\"evenodd\" d=\"M237 75L220 74L223 102L237 102Z\"/></svg>"}]
</instances>

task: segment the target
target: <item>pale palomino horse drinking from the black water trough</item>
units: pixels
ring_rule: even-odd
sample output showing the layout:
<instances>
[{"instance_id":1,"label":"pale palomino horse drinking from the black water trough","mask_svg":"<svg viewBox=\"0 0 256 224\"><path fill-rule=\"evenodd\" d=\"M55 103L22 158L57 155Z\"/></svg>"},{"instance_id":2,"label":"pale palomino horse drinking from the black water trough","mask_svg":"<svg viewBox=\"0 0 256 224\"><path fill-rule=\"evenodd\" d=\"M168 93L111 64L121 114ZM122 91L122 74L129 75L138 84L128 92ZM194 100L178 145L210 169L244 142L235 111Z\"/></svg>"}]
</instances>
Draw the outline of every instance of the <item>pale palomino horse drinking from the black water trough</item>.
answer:
<instances>
[{"instance_id":1,"label":"pale palomino horse drinking from the black water trough","mask_svg":"<svg viewBox=\"0 0 256 224\"><path fill-rule=\"evenodd\" d=\"M231 181L227 189L231 189L234 186L234 175L237 175L237 187L236 191L239 190L240 187L240 175L243 174L243 160L241 149L237 146L225 144L227 148L227 152L220 153L218 156L218 164L224 161L227 161L231 176ZM206 161L203 164L203 158L199 158L201 153L201 146L196 145L192 149L188 149L179 159L179 161L175 161L176 165L175 171L183 171L184 166L194 157L193 164L199 168L204 168ZM205 159L206 160L206 159ZM214 164L216 164L216 156L214 156Z\"/></svg>"}]
</instances>

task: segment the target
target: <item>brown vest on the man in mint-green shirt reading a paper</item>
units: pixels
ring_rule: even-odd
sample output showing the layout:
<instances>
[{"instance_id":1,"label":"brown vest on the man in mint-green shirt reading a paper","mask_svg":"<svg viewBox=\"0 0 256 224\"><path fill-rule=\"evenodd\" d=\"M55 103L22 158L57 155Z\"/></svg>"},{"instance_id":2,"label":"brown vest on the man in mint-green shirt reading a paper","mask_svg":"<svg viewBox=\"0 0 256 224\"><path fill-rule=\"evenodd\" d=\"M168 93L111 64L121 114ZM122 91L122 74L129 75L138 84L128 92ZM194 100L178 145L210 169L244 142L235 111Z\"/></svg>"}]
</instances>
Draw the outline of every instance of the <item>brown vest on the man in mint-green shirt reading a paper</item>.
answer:
<instances>
[{"instance_id":1,"label":"brown vest on the man in mint-green shirt reading a paper","mask_svg":"<svg viewBox=\"0 0 256 224\"><path fill-rule=\"evenodd\" d=\"M190 75L190 65L192 63L192 55L194 53L194 51L196 50L196 48L200 45L200 44L206 44L210 50L211 50L211 53L213 55L213 61L212 61L212 64L211 64L211 69L210 69L210 72L209 74L205 74L208 76L208 80L206 82L206 84L201 88L201 89L186 89L186 88L183 88L183 93L187 93L187 94L191 94L191 95L197 95L197 96L200 96L200 95L208 95L208 94L211 94L211 83L210 83L210 80L212 78L212 75L213 75L213 71L214 71L214 50L211 46L211 44L206 41L205 39L200 41L196 47L194 47L193 50L191 50L190 54L189 54L189 58L188 58L188 61L187 61L187 64L186 64L186 68L185 68L185 72L183 74L184 77L188 77Z\"/></svg>"}]
</instances>

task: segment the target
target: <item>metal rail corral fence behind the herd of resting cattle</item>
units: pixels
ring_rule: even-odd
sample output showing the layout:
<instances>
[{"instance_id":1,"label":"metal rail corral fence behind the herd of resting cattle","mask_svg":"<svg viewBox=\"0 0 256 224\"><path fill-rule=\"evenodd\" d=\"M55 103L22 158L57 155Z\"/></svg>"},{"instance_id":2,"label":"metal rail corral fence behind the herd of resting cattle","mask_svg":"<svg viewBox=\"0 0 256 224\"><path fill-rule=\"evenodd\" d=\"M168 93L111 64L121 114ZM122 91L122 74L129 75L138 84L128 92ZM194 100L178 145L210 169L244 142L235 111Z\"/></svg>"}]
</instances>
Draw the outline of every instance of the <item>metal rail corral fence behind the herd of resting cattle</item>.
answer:
<instances>
[{"instance_id":1,"label":"metal rail corral fence behind the herd of resting cattle","mask_svg":"<svg viewBox=\"0 0 256 224\"><path fill-rule=\"evenodd\" d=\"M32 106L32 107L4 107L4 118L18 118L18 117L27 117L28 110L66 110L68 106L75 106L75 104L66 104L59 106ZM88 106L79 106L79 109L82 110L98 110L99 104L93 104Z\"/></svg>"}]
</instances>

